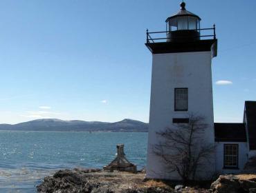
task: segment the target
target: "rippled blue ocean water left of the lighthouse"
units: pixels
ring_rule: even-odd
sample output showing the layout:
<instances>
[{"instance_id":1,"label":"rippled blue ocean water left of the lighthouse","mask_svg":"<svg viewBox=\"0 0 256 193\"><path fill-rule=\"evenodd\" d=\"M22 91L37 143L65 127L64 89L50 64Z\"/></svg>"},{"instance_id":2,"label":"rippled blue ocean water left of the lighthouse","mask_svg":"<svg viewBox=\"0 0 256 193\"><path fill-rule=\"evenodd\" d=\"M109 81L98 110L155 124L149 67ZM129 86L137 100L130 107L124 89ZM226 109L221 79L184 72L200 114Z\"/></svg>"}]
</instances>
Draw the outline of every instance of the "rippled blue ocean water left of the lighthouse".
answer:
<instances>
[{"instance_id":1,"label":"rippled blue ocean water left of the lighthouse","mask_svg":"<svg viewBox=\"0 0 256 193\"><path fill-rule=\"evenodd\" d=\"M118 143L131 163L145 167L147 133L0 131L0 192L37 192L56 170L101 168L115 158Z\"/></svg>"}]
</instances>

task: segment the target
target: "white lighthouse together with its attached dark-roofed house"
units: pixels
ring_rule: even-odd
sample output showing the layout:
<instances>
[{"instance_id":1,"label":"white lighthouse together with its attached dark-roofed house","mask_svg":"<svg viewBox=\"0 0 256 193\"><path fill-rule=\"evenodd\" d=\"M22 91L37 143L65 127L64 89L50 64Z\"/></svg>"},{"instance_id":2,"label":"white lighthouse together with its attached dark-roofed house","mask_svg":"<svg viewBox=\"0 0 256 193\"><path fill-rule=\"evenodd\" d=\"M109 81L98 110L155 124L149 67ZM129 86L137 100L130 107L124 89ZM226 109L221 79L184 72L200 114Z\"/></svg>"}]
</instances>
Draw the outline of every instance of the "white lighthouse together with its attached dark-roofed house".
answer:
<instances>
[{"instance_id":1,"label":"white lighthouse together with its attached dark-roofed house","mask_svg":"<svg viewBox=\"0 0 256 193\"><path fill-rule=\"evenodd\" d=\"M152 52L147 174L149 179L179 179L166 170L153 147L163 140L156 134L180 123L190 114L205 117L201 143L215 145L200 179L216 172L241 172L256 155L256 102L246 101L244 123L214 123L212 58L217 57L215 26L201 28L200 17L185 9L166 19L166 32L148 32L145 45ZM161 36L162 35L162 36Z\"/></svg>"}]
</instances>

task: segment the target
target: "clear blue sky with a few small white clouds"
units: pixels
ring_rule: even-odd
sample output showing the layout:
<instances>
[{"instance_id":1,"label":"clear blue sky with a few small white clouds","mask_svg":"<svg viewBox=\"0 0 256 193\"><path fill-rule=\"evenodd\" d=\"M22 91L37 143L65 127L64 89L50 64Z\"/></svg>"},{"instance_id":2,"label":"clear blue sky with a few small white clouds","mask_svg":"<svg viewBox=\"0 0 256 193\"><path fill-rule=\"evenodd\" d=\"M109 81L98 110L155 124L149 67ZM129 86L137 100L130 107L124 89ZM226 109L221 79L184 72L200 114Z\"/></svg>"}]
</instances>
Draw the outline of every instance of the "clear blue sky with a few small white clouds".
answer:
<instances>
[{"instance_id":1,"label":"clear blue sky with a few small white clouds","mask_svg":"<svg viewBox=\"0 0 256 193\"><path fill-rule=\"evenodd\" d=\"M0 123L56 118L148 122L152 54L179 0L1 0ZM256 1L188 0L217 28L215 122L241 122L256 101Z\"/></svg>"}]
</instances>

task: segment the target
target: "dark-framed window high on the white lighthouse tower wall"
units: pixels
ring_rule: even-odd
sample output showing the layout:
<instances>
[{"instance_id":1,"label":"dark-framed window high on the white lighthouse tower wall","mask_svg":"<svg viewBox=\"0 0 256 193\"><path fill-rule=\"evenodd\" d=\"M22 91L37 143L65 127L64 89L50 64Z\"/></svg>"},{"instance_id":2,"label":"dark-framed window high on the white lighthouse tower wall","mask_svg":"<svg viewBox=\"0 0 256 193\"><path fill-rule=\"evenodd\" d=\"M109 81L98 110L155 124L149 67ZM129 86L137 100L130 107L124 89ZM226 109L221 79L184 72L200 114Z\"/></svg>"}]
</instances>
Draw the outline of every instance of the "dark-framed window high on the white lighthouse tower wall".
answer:
<instances>
[{"instance_id":1,"label":"dark-framed window high on the white lighthouse tower wall","mask_svg":"<svg viewBox=\"0 0 256 193\"><path fill-rule=\"evenodd\" d=\"M175 111L188 111L188 88L175 88Z\"/></svg>"}]
</instances>

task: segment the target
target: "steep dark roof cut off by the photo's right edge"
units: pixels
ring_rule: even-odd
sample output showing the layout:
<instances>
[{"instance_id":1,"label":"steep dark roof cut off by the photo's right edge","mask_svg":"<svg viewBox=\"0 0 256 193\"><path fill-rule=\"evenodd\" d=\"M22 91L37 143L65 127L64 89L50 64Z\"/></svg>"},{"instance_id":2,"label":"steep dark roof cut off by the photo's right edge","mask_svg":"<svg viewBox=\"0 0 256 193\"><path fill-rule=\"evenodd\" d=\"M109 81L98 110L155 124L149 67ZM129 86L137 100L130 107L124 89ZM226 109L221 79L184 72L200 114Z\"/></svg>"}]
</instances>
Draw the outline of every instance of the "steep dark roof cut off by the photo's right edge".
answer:
<instances>
[{"instance_id":1,"label":"steep dark roof cut off by the photo's right edge","mask_svg":"<svg viewBox=\"0 0 256 193\"><path fill-rule=\"evenodd\" d=\"M244 122L248 130L250 150L256 150L256 101L245 102Z\"/></svg>"}]
</instances>

